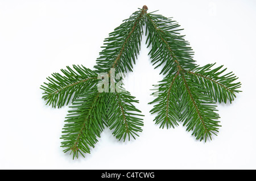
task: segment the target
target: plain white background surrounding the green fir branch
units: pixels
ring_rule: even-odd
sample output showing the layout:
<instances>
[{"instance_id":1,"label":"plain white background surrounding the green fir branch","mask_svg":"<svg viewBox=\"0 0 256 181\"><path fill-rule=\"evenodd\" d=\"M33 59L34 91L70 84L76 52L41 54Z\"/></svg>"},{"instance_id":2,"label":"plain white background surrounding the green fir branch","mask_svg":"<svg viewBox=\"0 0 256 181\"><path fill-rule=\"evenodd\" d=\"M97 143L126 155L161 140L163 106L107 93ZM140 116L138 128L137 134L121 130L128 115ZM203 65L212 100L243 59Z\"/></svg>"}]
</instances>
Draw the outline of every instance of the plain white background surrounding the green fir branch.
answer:
<instances>
[{"instance_id":1,"label":"plain white background surrounding the green fir branch","mask_svg":"<svg viewBox=\"0 0 256 181\"><path fill-rule=\"evenodd\" d=\"M180 125L159 129L147 103L153 69L143 38L127 90L140 101L143 132L119 142L108 128L86 158L60 148L68 107L45 106L46 77L69 65L93 69L103 40L137 8L174 17L197 64L217 62L242 82L232 104L218 105L220 132L207 143ZM256 169L256 1L0 1L0 169Z\"/></svg>"}]
</instances>

